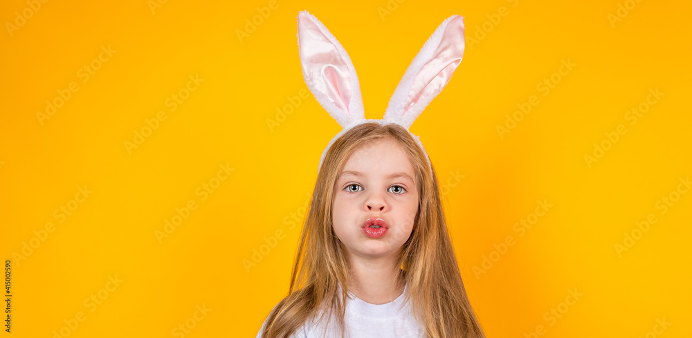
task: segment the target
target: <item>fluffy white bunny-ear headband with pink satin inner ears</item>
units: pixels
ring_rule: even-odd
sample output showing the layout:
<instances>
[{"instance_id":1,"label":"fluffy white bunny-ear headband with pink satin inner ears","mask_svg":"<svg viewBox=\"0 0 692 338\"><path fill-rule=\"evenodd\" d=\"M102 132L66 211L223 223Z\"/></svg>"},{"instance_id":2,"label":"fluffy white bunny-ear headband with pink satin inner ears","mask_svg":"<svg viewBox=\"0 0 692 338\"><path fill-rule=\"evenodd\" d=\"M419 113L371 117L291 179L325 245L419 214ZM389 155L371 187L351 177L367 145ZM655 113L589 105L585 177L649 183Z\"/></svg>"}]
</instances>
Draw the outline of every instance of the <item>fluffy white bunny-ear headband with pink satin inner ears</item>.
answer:
<instances>
[{"instance_id":1,"label":"fluffy white bunny-ear headband with pink satin inner ears","mask_svg":"<svg viewBox=\"0 0 692 338\"><path fill-rule=\"evenodd\" d=\"M448 17L432 33L403 74L382 120L365 119L361 86L351 59L327 27L307 11L298 14L298 50L305 83L327 113L343 127L322 151L319 171L331 144L358 124L394 123L408 131L462 62L464 18ZM419 136L411 135L428 159L432 173L430 158Z\"/></svg>"}]
</instances>

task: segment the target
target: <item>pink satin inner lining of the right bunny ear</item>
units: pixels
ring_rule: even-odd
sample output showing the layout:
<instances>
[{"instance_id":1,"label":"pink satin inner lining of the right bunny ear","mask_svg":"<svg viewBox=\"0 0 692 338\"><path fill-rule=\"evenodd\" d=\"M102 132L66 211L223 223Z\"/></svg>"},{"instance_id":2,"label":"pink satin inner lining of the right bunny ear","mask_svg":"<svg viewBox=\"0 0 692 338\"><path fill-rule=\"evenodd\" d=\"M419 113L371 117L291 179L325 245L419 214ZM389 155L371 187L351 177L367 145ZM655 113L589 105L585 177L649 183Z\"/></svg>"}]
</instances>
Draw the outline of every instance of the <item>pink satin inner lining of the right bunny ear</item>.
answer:
<instances>
[{"instance_id":1,"label":"pink satin inner lining of the right bunny ear","mask_svg":"<svg viewBox=\"0 0 692 338\"><path fill-rule=\"evenodd\" d=\"M458 22L463 25L463 21L460 19ZM452 74L462 62L462 55L464 55L463 27L459 29L453 21L448 24L439 46L433 53L435 57L421 68L408 91L408 97L406 97L404 104L405 111L408 111L419 101L437 95L452 78Z\"/></svg>"}]
</instances>

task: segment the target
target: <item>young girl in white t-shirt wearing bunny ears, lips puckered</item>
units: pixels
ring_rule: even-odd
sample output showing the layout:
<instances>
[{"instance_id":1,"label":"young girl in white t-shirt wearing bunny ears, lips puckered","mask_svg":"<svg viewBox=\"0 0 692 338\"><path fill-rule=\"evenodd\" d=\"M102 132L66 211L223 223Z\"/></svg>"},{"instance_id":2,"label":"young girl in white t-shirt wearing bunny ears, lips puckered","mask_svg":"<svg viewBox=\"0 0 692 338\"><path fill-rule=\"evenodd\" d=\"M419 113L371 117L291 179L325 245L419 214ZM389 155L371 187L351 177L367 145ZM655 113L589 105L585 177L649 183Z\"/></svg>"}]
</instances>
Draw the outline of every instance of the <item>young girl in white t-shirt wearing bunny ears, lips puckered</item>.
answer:
<instances>
[{"instance_id":1,"label":"young girl in white t-shirt wearing bunny ears, lips puckered","mask_svg":"<svg viewBox=\"0 0 692 338\"><path fill-rule=\"evenodd\" d=\"M466 297L435 170L408 127L464 50L462 17L437 28L383 120L365 120L345 50L298 16L303 75L343 127L322 153L289 294L257 337L484 337Z\"/></svg>"}]
</instances>

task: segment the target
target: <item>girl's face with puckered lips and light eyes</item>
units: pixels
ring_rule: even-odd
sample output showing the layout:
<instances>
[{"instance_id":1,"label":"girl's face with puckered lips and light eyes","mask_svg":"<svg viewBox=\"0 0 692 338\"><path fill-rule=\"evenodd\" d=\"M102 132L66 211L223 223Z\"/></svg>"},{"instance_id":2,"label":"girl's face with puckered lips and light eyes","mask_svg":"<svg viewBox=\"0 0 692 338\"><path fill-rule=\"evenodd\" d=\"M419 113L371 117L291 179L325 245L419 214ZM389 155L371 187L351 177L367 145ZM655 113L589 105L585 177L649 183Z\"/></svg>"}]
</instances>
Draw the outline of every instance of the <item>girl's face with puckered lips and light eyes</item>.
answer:
<instances>
[{"instance_id":1,"label":"girl's face with puckered lips and light eyes","mask_svg":"<svg viewBox=\"0 0 692 338\"><path fill-rule=\"evenodd\" d=\"M349 254L399 254L418 212L415 170L403 148L383 138L356 150L336 181L334 232Z\"/></svg>"}]
</instances>

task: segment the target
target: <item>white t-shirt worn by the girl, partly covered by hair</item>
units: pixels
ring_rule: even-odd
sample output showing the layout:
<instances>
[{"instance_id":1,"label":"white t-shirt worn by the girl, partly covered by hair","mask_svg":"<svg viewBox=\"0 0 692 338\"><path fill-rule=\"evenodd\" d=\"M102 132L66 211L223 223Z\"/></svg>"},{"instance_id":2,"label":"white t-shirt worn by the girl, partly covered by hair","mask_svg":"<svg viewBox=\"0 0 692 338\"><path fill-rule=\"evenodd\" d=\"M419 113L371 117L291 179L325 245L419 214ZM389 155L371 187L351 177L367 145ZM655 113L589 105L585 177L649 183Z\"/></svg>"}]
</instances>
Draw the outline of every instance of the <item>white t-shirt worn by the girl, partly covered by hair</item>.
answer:
<instances>
[{"instance_id":1,"label":"white t-shirt worn by the girl, partly covered by hair","mask_svg":"<svg viewBox=\"0 0 692 338\"><path fill-rule=\"evenodd\" d=\"M404 287L403 293L394 301L375 305L358 299L358 297L349 292L344 317L346 337L423 337L424 330L413 316L409 303L403 302L404 297L406 297L406 287ZM262 324L262 328L260 328L260 332L257 333L257 338L262 337L265 326L266 319ZM307 321L291 337L340 337L334 320L326 326L326 329L325 334L324 323Z\"/></svg>"}]
</instances>

